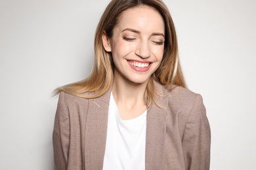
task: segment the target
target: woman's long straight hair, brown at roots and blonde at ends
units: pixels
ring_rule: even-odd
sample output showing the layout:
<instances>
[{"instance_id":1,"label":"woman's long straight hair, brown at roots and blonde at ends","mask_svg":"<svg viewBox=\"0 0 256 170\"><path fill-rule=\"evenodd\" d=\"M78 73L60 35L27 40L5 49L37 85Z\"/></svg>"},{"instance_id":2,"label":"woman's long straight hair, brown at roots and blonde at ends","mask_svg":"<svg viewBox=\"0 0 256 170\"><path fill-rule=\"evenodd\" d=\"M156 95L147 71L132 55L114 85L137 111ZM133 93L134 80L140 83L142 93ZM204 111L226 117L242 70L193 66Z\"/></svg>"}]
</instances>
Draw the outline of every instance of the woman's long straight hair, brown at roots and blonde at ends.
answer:
<instances>
[{"instance_id":1,"label":"woman's long straight hair, brown at roots and blonde at ends","mask_svg":"<svg viewBox=\"0 0 256 170\"><path fill-rule=\"evenodd\" d=\"M95 98L103 95L112 86L114 78L114 63L112 61L111 52L106 52L102 43L102 35L106 33L108 37L112 37L113 29L117 24L122 12L146 5L160 12L165 21L165 44L163 59L160 67L150 77L146 87L144 97L149 106L152 102L156 103L155 94L158 93L154 80L160 84L164 84L170 90L173 86L182 86L186 88L184 77L179 62L177 35L173 20L166 5L161 0L112 0L100 18L100 22L95 33L95 62L91 75L85 80L62 86L54 90L54 94L61 91L84 98ZM87 95L85 95L85 92Z\"/></svg>"}]
</instances>

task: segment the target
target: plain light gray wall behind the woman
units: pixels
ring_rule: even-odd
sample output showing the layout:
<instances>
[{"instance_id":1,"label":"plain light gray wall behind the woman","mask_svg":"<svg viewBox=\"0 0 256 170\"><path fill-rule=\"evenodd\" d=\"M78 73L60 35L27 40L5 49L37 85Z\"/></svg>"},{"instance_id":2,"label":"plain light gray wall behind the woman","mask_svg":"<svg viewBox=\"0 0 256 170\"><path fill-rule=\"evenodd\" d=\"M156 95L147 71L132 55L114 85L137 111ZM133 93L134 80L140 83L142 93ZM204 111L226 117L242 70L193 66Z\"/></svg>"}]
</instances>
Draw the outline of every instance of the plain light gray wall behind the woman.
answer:
<instances>
[{"instance_id":1,"label":"plain light gray wall behind the woman","mask_svg":"<svg viewBox=\"0 0 256 170\"><path fill-rule=\"evenodd\" d=\"M0 0L0 169L51 170L54 88L91 71L109 0ZM256 1L167 1L188 88L203 95L211 169L256 169Z\"/></svg>"}]
</instances>

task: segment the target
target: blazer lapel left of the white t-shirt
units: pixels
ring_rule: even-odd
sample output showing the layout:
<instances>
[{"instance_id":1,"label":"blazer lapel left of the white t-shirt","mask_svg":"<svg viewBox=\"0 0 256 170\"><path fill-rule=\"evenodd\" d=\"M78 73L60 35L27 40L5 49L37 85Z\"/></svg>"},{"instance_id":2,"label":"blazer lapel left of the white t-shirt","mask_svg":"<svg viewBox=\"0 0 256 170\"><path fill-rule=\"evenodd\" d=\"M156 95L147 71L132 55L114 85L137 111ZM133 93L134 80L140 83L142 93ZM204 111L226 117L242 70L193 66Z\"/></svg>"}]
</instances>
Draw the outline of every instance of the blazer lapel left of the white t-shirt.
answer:
<instances>
[{"instance_id":1,"label":"blazer lapel left of the white t-shirt","mask_svg":"<svg viewBox=\"0 0 256 170\"><path fill-rule=\"evenodd\" d=\"M108 126L108 90L104 95L89 99L85 122L85 169L102 169Z\"/></svg>"}]
</instances>

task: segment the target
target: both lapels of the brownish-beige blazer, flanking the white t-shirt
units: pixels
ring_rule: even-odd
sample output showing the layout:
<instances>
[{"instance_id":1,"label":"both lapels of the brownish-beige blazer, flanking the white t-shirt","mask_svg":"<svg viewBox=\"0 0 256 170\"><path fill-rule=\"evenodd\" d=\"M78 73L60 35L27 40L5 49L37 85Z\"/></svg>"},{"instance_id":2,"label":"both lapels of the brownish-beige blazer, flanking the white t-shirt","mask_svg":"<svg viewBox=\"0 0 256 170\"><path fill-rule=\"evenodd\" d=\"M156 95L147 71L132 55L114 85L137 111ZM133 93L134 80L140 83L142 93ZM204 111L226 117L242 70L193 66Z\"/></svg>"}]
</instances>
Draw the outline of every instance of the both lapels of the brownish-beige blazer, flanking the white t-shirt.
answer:
<instances>
[{"instance_id":1,"label":"both lapels of the brownish-beige blazer, flanking the white t-shirt","mask_svg":"<svg viewBox=\"0 0 256 170\"><path fill-rule=\"evenodd\" d=\"M155 83L155 87L163 94L163 88ZM102 169L106 148L108 126L108 107L111 88L104 95L89 99L87 120L85 124L85 169ZM156 96L158 104L167 107L165 97ZM167 120L167 109L152 105L147 113L146 128L146 169L163 169L163 144Z\"/></svg>"}]
</instances>

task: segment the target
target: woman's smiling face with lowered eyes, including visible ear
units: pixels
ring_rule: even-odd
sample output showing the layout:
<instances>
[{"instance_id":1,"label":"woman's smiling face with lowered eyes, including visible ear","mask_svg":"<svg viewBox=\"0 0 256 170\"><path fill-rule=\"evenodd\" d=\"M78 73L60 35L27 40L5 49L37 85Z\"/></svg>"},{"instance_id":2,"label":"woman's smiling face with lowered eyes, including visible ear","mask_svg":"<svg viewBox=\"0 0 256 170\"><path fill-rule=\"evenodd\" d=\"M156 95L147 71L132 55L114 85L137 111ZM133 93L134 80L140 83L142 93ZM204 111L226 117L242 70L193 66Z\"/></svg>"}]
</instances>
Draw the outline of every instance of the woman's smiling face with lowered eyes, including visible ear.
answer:
<instances>
[{"instance_id":1,"label":"woman's smiling face with lowered eyes, including visible ear","mask_svg":"<svg viewBox=\"0 0 256 170\"><path fill-rule=\"evenodd\" d=\"M165 23L157 10L135 7L121 14L110 39L102 39L112 52L114 80L147 83L163 58Z\"/></svg>"}]
</instances>

